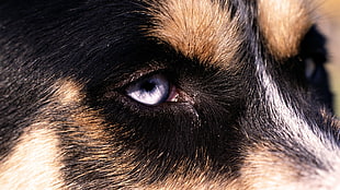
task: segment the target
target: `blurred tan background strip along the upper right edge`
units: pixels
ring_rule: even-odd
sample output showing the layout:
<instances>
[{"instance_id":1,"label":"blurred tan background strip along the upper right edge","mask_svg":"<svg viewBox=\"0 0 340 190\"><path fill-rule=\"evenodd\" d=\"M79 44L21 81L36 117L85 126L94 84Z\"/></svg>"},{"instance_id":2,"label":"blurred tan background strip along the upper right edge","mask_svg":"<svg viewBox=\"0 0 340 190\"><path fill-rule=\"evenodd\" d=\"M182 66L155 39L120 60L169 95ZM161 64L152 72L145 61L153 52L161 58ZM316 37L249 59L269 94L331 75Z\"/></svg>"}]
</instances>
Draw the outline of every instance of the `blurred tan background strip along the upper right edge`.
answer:
<instances>
[{"instance_id":1,"label":"blurred tan background strip along the upper right edge","mask_svg":"<svg viewBox=\"0 0 340 190\"><path fill-rule=\"evenodd\" d=\"M319 0L321 15L320 29L328 37L330 61L327 69L330 72L330 82L335 94L336 114L340 116L340 0Z\"/></svg>"}]
</instances>

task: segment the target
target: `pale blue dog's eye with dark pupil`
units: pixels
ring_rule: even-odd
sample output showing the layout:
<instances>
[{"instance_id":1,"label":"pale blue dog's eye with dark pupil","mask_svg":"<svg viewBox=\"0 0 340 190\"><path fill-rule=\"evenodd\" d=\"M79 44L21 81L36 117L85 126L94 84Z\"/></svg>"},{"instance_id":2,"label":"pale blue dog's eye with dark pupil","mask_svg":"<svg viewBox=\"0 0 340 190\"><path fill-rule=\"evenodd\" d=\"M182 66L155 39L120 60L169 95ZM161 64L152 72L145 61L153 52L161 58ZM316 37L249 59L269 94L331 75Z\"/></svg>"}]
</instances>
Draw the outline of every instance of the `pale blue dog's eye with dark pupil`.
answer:
<instances>
[{"instance_id":1,"label":"pale blue dog's eye with dark pupil","mask_svg":"<svg viewBox=\"0 0 340 190\"><path fill-rule=\"evenodd\" d=\"M126 94L141 104L158 105L169 99L171 85L163 75L154 74L128 85Z\"/></svg>"}]
</instances>

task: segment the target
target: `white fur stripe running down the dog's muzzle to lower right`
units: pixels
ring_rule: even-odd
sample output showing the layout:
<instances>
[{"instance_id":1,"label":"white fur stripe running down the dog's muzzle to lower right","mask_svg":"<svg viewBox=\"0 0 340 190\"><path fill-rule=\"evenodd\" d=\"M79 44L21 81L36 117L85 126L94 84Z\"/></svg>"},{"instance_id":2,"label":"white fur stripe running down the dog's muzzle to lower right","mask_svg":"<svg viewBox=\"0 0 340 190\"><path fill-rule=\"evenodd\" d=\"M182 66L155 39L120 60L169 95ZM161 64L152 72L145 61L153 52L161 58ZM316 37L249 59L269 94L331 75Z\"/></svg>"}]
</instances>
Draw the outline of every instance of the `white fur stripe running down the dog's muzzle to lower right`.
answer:
<instances>
[{"instance_id":1,"label":"white fur stripe running down the dog's muzzle to lower right","mask_svg":"<svg viewBox=\"0 0 340 190\"><path fill-rule=\"evenodd\" d=\"M262 98L268 105L274 122L283 130L288 131L290 138L295 142L301 142L301 146L313 153L328 167L328 170L316 169L317 175L307 176L304 183L305 188L340 189L340 182L337 180L340 176L339 147L319 130L317 123L309 126L307 118L303 116L298 108L294 107L294 103L290 104L290 99L284 99L277 84L268 73L264 64L259 63L257 66L257 73L261 91L264 91L264 97ZM282 186L287 187L290 185Z\"/></svg>"}]
</instances>

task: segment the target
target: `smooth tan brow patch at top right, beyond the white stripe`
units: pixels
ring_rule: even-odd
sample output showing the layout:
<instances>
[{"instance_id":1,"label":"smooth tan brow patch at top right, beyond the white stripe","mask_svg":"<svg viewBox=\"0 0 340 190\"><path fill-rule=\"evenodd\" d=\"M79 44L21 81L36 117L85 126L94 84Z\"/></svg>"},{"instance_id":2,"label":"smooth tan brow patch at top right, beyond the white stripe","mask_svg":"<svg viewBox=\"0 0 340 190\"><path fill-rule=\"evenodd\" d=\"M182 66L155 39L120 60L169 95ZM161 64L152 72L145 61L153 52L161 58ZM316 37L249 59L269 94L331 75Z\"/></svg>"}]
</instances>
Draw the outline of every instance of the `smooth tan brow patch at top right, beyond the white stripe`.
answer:
<instances>
[{"instance_id":1,"label":"smooth tan brow patch at top right, beyond the white stripe","mask_svg":"<svg viewBox=\"0 0 340 190\"><path fill-rule=\"evenodd\" d=\"M259 26L276 58L296 56L315 20L313 0L259 0Z\"/></svg>"}]
</instances>

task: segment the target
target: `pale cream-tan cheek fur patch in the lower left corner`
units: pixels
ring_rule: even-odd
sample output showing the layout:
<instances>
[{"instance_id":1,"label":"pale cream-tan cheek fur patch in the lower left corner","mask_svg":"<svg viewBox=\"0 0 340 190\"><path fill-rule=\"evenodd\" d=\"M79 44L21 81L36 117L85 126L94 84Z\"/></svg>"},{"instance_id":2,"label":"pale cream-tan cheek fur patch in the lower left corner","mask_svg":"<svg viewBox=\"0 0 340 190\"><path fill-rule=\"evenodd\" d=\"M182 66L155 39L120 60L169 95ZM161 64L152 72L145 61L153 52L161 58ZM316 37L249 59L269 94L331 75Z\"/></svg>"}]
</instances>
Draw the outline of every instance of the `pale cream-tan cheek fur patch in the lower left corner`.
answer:
<instances>
[{"instance_id":1,"label":"pale cream-tan cheek fur patch in the lower left corner","mask_svg":"<svg viewBox=\"0 0 340 190\"><path fill-rule=\"evenodd\" d=\"M14 151L0 164L0 189L59 189L58 138L49 123L37 122L27 128Z\"/></svg>"}]
</instances>

